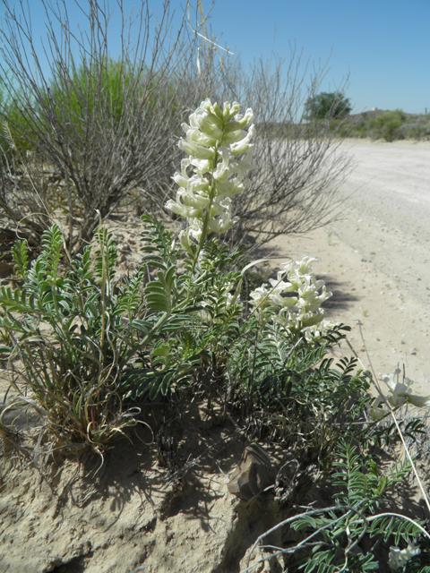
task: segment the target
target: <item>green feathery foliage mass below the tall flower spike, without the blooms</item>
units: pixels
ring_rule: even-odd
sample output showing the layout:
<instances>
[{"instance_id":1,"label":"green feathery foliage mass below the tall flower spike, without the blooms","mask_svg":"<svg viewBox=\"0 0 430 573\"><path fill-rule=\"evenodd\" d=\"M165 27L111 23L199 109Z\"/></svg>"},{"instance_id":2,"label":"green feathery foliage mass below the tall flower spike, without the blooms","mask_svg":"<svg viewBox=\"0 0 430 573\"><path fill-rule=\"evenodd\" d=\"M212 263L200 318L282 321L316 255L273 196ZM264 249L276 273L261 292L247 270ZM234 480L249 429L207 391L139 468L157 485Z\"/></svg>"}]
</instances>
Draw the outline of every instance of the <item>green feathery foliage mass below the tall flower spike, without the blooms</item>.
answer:
<instances>
[{"instance_id":1,"label":"green feathery foliage mass below the tall flower spike, without the blooms","mask_svg":"<svg viewBox=\"0 0 430 573\"><path fill-rule=\"evenodd\" d=\"M210 403L224 401L226 411L243 410L263 434L330 466L332 444L369 403L349 404L351 393L364 397L369 386L366 375L351 375L354 361L333 369L326 357L347 328L306 342L253 316L240 326L242 305L228 292L238 292L241 276L231 269L241 253L228 254L212 240L181 275L180 247L160 222L144 221L142 266L120 282L116 244L101 227L95 252L86 247L65 271L56 226L31 265L25 242L13 248L22 286L0 287L7 341L0 351L34 392L52 435L61 434L66 448L79 442L102 451L136 422L125 403L170 400L191 388Z\"/></svg>"}]
</instances>

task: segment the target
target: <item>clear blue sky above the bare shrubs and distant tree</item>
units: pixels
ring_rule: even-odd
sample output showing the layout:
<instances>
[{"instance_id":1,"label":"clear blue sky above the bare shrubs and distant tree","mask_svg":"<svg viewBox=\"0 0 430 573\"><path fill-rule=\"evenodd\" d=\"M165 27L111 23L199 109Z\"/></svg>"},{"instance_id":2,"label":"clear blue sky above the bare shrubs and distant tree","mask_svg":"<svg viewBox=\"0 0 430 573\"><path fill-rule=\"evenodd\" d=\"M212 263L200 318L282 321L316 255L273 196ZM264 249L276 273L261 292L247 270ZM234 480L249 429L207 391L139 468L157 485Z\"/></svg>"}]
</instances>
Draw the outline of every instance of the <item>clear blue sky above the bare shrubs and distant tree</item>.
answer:
<instances>
[{"instance_id":1,"label":"clear blue sky above the bare shrubs and distant tree","mask_svg":"<svg viewBox=\"0 0 430 573\"><path fill-rule=\"evenodd\" d=\"M186 0L170 1L182 13ZM211 0L202 2L207 12ZM74 0L66 4L76 25L80 12ZM161 4L150 0L154 13ZM130 13L142 2L124 0L124 5ZM33 35L43 37L40 0L30 0L30 7ZM330 58L321 90L335 90L349 76L346 95L356 111L400 107L409 113L430 112L430 0L217 0L209 23L221 45L240 54L244 64L267 56L273 47L288 58L291 44L317 66ZM114 18L112 56L117 30L119 20Z\"/></svg>"}]
</instances>

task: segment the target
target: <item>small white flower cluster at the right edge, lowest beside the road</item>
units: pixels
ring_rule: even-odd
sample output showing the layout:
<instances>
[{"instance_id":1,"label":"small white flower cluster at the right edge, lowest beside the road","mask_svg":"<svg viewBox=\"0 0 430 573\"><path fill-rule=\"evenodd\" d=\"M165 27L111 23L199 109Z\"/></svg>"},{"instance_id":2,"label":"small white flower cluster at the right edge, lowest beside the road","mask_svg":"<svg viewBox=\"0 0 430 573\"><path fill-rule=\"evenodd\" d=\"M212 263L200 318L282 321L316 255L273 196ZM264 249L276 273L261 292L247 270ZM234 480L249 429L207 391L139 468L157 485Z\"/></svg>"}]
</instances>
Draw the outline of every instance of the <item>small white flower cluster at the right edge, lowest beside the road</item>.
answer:
<instances>
[{"instance_id":1,"label":"small white flower cluster at the right edge, lowest beside the road","mask_svg":"<svg viewBox=\"0 0 430 573\"><path fill-rule=\"evenodd\" d=\"M369 408L368 413L374 420L381 420L385 415L390 412L385 403L390 403L391 407L397 408L403 404L412 404L419 408L426 408L430 406L430 396L417 396L410 394L410 386L414 383L410 378L405 378L403 382L399 381L400 369L396 368L390 375L385 374L383 381L388 386L391 394L388 396L378 396L374 400L372 407ZM397 379L397 380L396 380Z\"/></svg>"}]
</instances>

